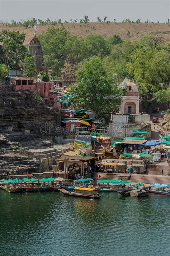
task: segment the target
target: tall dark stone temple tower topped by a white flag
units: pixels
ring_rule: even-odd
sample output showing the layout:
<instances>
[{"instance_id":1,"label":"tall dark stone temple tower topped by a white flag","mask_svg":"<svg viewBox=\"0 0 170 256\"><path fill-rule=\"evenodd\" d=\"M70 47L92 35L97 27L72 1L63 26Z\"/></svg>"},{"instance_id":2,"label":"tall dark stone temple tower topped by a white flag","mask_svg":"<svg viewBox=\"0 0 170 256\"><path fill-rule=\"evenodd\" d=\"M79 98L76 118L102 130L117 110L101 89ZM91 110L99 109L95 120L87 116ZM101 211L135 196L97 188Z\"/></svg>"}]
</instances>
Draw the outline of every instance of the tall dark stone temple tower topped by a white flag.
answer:
<instances>
[{"instance_id":1,"label":"tall dark stone temple tower topped by a white flag","mask_svg":"<svg viewBox=\"0 0 170 256\"><path fill-rule=\"evenodd\" d=\"M44 57L43 52L41 48L41 44L36 37L36 35L33 37L33 39L30 41L28 53L35 57L34 64L38 71L42 71L44 67Z\"/></svg>"}]
</instances>

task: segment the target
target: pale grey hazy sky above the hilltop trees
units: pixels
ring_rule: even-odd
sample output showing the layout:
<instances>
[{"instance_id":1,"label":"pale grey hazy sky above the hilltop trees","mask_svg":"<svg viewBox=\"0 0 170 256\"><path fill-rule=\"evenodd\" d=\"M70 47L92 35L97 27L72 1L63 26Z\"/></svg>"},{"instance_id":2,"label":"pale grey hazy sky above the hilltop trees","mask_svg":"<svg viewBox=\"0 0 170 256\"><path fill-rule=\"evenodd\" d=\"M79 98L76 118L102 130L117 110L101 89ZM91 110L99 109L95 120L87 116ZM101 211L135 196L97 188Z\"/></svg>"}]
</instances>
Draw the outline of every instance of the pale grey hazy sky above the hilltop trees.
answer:
<instances>
[{"instance_id":1,"label":"pale grey hazy sky above the hilltop trees","mask_svg":"<svg viewBox=\"0 0 170 256\"><path fill-rule=\"evenodd\" d=\"M0 0L0 21L47 18L62 22L89 16L96 21L107 16L109 21L122 22L129 18L167 22L170 18L169 0Z\"/></svg>"}]
</instances>

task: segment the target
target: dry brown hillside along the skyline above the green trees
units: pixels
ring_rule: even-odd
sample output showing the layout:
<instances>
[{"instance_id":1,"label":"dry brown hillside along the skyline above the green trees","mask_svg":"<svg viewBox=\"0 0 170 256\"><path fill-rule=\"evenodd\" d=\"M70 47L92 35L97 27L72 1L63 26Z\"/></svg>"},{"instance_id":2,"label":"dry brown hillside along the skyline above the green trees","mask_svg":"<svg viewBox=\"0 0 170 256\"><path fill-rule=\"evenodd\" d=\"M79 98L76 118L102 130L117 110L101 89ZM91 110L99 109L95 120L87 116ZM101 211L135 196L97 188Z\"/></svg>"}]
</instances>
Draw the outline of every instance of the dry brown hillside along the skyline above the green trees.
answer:
<instances>
[{"instance_id":1,"label":"dry brown hillside along the skyline above the green trees","mask_svg":"<svg viewBox=\"0 0 170 256\"><path fill-rule=\"evenodd\" d=\"M41 34L43 31L46 31L49 25L37 25L37 35ZM142 36L150 36L152 32L161 31L170 33L170 27L165 23L64 23L63 26L71 35L78 37L86 37L90 34L101 35L103 37L109 38L114 34L121 36L123 40L130 39L132 41L139 40ZM60 28L61 24L53 26L55 28ZM33 28L23 28L23 27L9 27L5 25L0 25L0 31L8 29L10 31L24 32L25 45L28 45L30 40L33 37L34 30ZM127 32L130 32L130 37L127 36ZM165 41L169 41L169 35L165 35Z\"/></svg>"}]
</instances>

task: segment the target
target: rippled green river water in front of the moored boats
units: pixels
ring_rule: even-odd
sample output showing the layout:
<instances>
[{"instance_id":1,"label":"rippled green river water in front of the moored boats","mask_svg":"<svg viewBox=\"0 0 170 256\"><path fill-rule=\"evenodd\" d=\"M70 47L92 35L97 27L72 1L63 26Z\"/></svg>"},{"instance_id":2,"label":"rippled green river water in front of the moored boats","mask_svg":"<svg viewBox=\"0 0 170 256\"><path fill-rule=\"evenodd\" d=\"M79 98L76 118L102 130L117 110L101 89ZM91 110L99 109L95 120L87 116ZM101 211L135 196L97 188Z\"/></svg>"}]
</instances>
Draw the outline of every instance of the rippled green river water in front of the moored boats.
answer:
<instances>
[{"instance_id":1,"label":"rippled green river water in front of the moored boats","mask_svg":"<svg viewBox=\"0 0 170 256\"><path fill-rule=\"evenodd\" d=\"M170 255L170 197L0 191L0 255Z\"/></svg>"}]
</instances>

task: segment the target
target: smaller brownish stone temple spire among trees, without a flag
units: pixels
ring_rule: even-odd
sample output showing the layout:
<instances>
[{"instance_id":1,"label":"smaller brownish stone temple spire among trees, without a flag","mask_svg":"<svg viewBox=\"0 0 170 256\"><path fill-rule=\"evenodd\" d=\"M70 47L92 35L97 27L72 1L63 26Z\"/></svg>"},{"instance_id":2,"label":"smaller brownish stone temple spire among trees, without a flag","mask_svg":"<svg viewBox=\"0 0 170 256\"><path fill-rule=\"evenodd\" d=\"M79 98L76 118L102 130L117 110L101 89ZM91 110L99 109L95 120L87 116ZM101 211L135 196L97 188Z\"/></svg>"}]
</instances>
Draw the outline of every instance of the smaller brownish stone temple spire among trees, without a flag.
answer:
<instances>
[{"instance_id":1,"label":"smaller brownish stone temple spire among trees, without a flag","mask_svg":"<svg viewBox=\"0 0 170 256\"><path fill-rule=\"evenodd\" d=\"M53 80L56 86L59 88L69 87L75 83L75 72L77 69L77 63L71 54L65 60L63 70L61 71L61 78Z\"/></svg>"}]
</instances>

